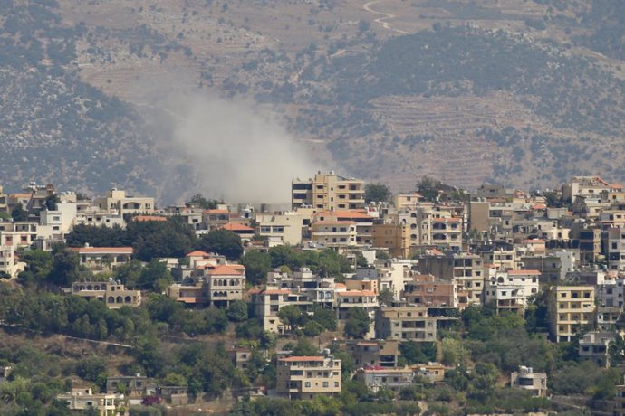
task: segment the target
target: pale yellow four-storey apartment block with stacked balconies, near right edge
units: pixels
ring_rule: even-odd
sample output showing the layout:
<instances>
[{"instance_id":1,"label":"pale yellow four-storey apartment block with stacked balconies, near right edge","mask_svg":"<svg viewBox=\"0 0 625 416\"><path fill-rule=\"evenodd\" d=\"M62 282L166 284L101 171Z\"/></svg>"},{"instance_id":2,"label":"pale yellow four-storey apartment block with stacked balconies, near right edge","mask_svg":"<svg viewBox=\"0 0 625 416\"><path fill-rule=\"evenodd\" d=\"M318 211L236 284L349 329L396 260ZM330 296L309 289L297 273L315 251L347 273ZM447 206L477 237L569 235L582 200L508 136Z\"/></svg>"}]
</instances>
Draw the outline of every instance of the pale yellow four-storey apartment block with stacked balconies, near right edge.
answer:
<instances>
[{"instance_id":1,"label":"pale yellow four-storey apartment block with stacked balconies, near right edge","mask_svg":"<svg viewBox=\"0 0 625 416\"><path fill-rule=\"evenodd\" d=\"M555 342L571 341L594 318L594 286L555 286L549 294L549 320Z\"/></svg>"}]
</instances>

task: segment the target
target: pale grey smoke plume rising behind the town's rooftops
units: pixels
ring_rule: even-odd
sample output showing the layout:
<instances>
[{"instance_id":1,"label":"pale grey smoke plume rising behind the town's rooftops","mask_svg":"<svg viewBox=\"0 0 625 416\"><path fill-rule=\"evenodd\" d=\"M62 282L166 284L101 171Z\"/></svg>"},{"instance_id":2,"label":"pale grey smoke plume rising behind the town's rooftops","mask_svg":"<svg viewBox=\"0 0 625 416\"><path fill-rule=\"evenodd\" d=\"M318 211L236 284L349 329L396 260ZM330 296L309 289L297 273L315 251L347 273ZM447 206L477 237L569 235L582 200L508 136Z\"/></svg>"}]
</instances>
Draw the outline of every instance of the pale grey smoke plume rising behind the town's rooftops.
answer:
<instances>
[{"instance_id":1,"label":"pale grey smoke plume rising behind the town's rooftops","mask_svg":"<svg viewBox=\"0 0 625 416\"><path fill-rule=\"evenodd\" d=\"M314 173L307 151L275 114L251 102L198 93L165 101L172 144L195 168L198 191L207 197L289 203L293 177Z\"/></svg>"}]
</instances>

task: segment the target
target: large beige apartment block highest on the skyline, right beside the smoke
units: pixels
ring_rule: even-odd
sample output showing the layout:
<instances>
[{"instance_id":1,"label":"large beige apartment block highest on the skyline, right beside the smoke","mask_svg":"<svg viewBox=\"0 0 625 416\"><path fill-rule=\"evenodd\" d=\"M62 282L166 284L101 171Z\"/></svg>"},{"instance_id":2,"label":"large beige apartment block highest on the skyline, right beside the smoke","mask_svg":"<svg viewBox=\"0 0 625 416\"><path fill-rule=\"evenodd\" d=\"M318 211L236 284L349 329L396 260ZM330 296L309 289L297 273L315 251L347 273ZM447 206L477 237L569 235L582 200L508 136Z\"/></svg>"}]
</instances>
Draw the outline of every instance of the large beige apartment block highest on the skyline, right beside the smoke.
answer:
<instances>
[{"instance_id":1,"label":"large beige apartment block highest on the skyline, right beside the smoke","mask_svg":"<svg viewBox=\"0 0 625 416\"><path fill-rule=\"evenodd\" d=\"M364 182L334 175L334 172L314 175L314 179L293 179L291 184L293 209L311 205L319 210L356 210L364 207Z\"/></svg>"}]
</instances>

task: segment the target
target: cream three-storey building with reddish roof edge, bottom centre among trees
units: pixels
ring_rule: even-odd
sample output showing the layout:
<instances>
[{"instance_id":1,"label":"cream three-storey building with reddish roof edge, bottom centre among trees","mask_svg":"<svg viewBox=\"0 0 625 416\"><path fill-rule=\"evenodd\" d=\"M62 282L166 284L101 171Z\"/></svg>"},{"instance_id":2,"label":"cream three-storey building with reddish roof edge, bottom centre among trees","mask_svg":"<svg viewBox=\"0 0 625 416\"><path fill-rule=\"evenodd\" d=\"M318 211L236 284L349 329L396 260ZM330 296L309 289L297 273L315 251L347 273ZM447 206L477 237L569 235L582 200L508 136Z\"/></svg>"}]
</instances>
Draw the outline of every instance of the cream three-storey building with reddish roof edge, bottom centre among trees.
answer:
<instances>
[{"instance_id":1,"label":"cream three-storey building with reddish roof edge, bottom centre among trees","mask_svg":"<svg viewBox=\"0 0 625 416\"><path fill-rule=\"evenodd\" d=\"M290 399L312 399L341 392L341 360L332 355L278 359L276 391Z\"/></svg>"}]
</instances>

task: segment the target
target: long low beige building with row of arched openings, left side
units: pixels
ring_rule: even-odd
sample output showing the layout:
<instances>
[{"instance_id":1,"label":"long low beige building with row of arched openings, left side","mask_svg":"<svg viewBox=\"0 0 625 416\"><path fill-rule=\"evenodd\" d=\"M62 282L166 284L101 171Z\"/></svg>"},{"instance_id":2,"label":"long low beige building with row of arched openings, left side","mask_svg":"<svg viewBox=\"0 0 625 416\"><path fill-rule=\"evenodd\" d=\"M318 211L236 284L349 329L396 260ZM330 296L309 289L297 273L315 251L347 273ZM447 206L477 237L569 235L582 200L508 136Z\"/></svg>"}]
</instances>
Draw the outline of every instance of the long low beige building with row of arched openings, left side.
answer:
<instances>
[{"instance_id":1,"label":"long low beige building with row of arched openings, left side","mask_svg":"<svg viewBox=\"0 0 625 416\"><path fill-rule=\"evenodd\" d=\"M72 295L99 300L109 309L141 305L141 291L127 289L119 281L76 281L72 283Z\"/></svg>"}]
</instances>

